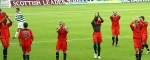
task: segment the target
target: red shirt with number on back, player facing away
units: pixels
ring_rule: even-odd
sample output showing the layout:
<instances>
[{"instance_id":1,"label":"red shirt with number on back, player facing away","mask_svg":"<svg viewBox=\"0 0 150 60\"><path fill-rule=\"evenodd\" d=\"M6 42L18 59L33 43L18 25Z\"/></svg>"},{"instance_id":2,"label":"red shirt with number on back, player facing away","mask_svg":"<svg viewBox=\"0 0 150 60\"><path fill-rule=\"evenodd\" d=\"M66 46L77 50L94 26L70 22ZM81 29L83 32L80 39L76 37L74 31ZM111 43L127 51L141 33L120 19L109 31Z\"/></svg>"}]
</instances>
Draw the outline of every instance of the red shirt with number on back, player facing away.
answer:
<instances>
[{"instance_id":1,"label":"red shirt with number on back, player facing away","mask_svg":"<svg viewBox=\"0 0 150 60\"><path fill-rule=\"evenodd\" d=\"M23 29L19 32L18 38L21 40L21 46L31 46L34 36L31 30Z\"/></svg>"}]
</instances>

